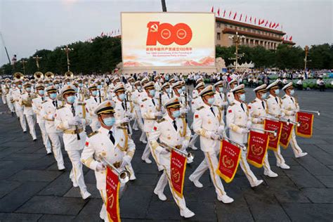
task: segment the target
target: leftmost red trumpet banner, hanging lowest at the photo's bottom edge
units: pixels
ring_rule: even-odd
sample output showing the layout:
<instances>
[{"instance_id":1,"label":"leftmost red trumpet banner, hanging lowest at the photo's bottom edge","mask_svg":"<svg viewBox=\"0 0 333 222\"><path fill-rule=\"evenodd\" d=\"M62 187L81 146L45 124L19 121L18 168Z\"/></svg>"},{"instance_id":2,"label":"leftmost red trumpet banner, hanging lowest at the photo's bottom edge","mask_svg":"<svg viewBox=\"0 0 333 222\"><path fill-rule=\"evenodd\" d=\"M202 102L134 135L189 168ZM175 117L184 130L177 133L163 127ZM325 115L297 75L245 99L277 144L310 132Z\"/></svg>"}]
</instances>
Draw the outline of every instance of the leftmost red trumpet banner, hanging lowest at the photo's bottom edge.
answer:
<instances>
[{"instance_id":1,"label":"leftmost red trumpet banner, hanging lowest at the photo's bottom edge","mask_svg":"<svg viewBox=\"0 0 333 222\"><path fill-rule=\"evenodd\" d=\"M106 211L109 221L120 221L119 214L119 179L109 166L106 173Z\"/></svg>"}]
</instances>

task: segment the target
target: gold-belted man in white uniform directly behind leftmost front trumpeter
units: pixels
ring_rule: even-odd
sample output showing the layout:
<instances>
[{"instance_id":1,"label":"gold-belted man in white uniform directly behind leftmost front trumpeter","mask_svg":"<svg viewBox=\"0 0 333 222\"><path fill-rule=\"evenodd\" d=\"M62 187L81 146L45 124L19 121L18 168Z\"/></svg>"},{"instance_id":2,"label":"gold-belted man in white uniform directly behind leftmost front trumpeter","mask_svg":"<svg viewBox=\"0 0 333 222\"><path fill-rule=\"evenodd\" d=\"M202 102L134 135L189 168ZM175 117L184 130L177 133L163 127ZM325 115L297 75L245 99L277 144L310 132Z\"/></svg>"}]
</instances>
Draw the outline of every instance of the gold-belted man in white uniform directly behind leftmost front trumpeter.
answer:
<instances>
[{"instance_id":1,"label":"gold-belted man in white uniform directly behind leftmost front trumpeter","mask_svg":"<svg viewBox=\"0 0 333 222\"><path fill-rule=\"evenodd\" d=\"M54 124L57 129L63 131L65 150L72 162L70 179L74 187L79 186L81 196L85 200L91 194L86 190L80 156L86 141L84 128L90 124L90 119L86 117L85 104L75 101L75 88L73 85L64 86L60 91L60 95L66 104L56 110Z\"/></svg>"}]
</instances>

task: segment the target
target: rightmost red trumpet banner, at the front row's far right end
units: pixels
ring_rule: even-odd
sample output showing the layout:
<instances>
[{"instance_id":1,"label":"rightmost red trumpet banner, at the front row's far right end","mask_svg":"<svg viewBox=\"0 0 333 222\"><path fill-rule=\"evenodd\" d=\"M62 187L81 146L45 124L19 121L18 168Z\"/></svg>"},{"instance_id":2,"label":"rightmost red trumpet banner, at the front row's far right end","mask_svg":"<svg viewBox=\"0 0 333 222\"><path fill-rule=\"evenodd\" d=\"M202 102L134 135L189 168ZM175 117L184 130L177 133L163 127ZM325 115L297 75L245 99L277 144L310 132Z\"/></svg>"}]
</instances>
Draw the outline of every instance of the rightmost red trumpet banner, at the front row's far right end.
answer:
<instances>
[{"instance_id":1,"label":"rightmost red trumpet banner, at the front row's far right end","mask_svg":"<svg viewBox=\"0 0 333 222\"><path fill-rule=\"evenodd\" d=\"M308 112L297 112L296 122L300 122L296 127L296 135L311 138L313 128L313 114Z\"/></svg>"}]
</instances>

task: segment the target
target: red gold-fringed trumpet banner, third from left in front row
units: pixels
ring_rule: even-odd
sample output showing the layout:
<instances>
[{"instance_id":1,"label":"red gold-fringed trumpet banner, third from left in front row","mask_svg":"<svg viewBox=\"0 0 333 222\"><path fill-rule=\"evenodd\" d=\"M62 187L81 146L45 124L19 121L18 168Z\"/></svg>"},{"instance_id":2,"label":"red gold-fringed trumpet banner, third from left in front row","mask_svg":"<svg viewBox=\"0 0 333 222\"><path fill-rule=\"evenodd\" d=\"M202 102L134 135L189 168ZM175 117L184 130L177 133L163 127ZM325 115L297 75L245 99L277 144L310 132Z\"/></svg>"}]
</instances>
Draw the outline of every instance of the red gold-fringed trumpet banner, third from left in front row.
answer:
<instances>
[{"instance_id":1,"label":"red gold-fringed trumpet banner, third from left in front row","mask_svg":"<svg viewBox=\"0 0 333 222\"><path fill-rule=\"evenodd\" d=\"M241 150L237 146L221 141L220 159L216 173L223 178L226 183L233 181L238 164L240 163Z\"/></svg>"}]
</instances>

